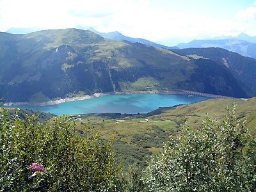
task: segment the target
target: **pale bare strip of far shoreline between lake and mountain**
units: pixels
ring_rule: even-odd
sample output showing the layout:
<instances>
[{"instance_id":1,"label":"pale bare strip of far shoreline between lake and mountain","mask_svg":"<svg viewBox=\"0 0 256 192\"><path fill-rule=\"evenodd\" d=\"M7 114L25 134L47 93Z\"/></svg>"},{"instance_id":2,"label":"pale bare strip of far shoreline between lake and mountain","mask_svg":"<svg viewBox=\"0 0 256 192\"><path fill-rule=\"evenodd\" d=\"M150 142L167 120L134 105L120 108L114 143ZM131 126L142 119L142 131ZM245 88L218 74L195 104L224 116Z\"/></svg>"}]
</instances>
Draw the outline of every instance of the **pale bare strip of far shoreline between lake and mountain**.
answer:
<instances>
[{"instance_id":1,"label":"pale bare strip of far shoreline between lake and mountain","mask_svg":"<svg viewBox=\"0 0 256 192\"><path fill-rule=\"evenodd\" d=\"M70 102L75 100L86 100L86 99L92 99L95 97L100 97L102 95L126 95L126 94L143 94L143 93L158 93L158 94L170 94L170 95L188 95L188 97L195 96L202 96L202 97L211 97L211 98L219 98L219 99L225 99L225 98L233 98L233 97L227 97L223 95L213 95L209 93L200 93L200 92L192 92L192 91L170 91L170 90L152 90L152 91L131 91L131 92L108 92L108 93L94 93L93 95L84 95L79 97L71 97L71 98L65 98L65 99L56 99L56 100L49 100L45 102L5 102L3 103L3 106L21 106L21 105L30 105L30 106L51 106L55 104L60 104L63 102Z\"/></svg>"}]
</instances>

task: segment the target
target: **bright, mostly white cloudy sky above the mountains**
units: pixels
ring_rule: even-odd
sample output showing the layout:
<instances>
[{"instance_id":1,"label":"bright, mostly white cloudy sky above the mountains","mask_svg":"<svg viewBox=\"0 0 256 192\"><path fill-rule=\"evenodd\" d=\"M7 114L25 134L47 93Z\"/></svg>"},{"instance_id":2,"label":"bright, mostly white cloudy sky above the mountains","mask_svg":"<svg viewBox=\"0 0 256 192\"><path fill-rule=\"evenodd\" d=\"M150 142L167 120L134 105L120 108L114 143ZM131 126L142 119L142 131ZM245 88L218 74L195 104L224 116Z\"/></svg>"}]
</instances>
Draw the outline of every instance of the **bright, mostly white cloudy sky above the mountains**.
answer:
<instances>
[{"instance_id":1,"label":"bright, mostly white cloudy sky above the mountains","mask_svg":"<svg viewBox=\"0 0 256 192\"><path fill-rule=\"evenodd\" d=\"M0 0L0 31L93 27L166 45L256 36L256 0Z\"/></svg>"}]
</instances>

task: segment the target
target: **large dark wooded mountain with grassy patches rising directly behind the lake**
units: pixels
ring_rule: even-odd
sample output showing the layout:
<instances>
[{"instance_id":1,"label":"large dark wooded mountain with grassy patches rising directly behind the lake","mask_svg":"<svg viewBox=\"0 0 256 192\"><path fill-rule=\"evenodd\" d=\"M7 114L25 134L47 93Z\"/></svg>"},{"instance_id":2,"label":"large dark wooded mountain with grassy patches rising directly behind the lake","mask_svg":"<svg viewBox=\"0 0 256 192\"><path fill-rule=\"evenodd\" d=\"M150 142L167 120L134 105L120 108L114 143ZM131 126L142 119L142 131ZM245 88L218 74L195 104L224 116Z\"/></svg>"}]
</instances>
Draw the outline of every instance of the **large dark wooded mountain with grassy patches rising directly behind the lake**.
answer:
<instances>
[{"instance_id":1,"label":"large dark wooded mountain with grassy patches rising directly behind the lake","mask_svg":"<svg viewBox=\"0 0 256 192\"><path fill-rule=\"evenodd\" d=\"M4 102L148 89L256 95L256 60L223 49L171 51L82 29L0 33L0 47Z\"/></svg>"}]
</instances>

